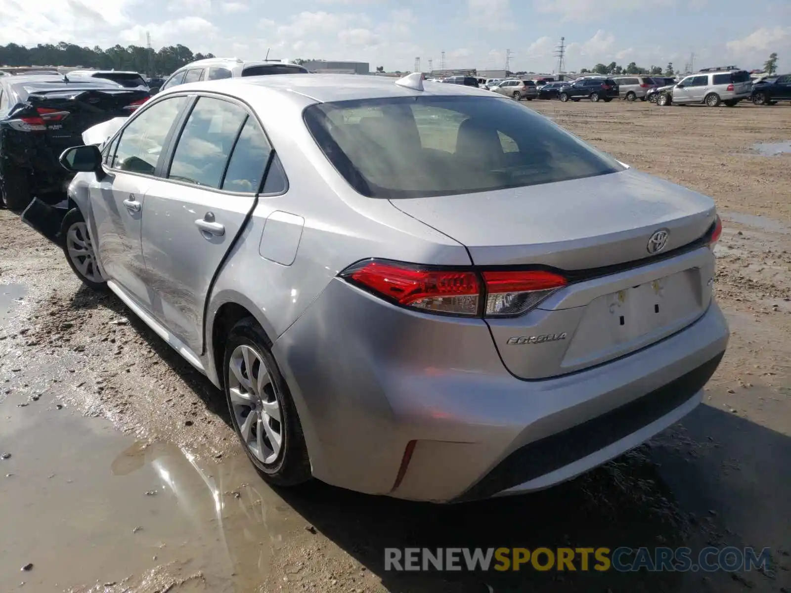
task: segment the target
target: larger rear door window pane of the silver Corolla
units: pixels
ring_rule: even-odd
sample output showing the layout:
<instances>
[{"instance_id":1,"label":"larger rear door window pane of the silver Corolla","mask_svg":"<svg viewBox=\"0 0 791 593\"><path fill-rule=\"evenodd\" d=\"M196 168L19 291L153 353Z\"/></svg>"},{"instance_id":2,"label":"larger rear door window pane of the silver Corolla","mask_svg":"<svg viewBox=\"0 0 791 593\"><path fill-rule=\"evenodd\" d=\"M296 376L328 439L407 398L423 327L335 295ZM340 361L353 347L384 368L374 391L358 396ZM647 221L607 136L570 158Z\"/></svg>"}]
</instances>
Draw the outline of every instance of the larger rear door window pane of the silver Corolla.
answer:
<instances>
[{"instance_id":1,"label":"larger rear door window pane of the silver Corolla","mask_svg":"<svg viewBox=\"0 0 791 593\"><path fill-rule=\"evenodd\" d=\"M225 163L246 117L237 104L202 96L181 131L168 179L220 187Z\"/></svg>"}]
</instances>

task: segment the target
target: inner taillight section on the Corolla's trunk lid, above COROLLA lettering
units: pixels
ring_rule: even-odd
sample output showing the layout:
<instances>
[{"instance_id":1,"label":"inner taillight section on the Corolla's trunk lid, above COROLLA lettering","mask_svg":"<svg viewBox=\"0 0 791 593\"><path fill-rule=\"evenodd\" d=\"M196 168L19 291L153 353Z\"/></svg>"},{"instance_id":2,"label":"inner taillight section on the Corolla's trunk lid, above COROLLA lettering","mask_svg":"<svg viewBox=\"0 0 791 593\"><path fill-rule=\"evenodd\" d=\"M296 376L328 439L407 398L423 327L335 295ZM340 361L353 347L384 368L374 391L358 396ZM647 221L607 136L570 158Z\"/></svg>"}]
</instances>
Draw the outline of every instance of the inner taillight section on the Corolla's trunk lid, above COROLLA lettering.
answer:
<instances>
[{"instance_id":1,"label":"inner taillight section on the Corolla's trunk lid, above COROLLA lettering","mask_svg":"<svg viewBox=\"0 0 791 593\"><path fill-rule=\"evenodd\" d=\"M521 315L568 284L561 275L543 270L483 272L483 281L486 283L484 313L491 317Z\"/></svg>"}]
</instances>

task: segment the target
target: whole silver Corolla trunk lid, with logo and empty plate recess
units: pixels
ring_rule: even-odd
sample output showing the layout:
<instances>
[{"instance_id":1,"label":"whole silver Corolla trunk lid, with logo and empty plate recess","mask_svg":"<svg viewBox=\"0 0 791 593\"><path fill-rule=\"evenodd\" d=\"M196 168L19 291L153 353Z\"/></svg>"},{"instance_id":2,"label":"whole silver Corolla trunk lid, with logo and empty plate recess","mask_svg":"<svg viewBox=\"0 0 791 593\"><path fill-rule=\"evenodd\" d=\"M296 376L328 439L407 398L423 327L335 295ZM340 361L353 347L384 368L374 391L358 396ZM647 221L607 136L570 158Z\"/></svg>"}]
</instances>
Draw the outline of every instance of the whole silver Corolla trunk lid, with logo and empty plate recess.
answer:
<instances>
[{"instance_id":1,"label":"whole silver Corolla trunk lid, with logo and empty plate recess","mask_svg":"<svg viewBox=\"0 0 791 593\"><path fill-rule=\"evenodd\" d=\"M392 203L460 241L476 266L571 272L570 284L532 311L486 318L503 364L523 379L579 371L649 346L694 323L710 304L708 247L657 258L648 244L661 229L668 237L660 253L701 239L715 221L713 202L631 169Z\"/></svg>"}]
</instances>

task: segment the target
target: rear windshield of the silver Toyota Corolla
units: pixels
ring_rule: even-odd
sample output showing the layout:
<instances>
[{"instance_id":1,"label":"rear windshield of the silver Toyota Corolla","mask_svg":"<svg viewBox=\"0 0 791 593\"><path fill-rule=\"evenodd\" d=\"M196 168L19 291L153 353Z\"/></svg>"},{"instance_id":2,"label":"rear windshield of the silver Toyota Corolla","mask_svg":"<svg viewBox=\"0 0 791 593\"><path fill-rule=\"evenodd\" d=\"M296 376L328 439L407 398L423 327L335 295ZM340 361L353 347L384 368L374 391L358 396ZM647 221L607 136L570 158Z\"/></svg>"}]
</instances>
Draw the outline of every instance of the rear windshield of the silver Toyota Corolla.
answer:
<instances>
[{"instance_id":1,"label":"rear windshield of the silver Toyota Corolla","mask_svg":"<svg viewBox=\"0 0 791 593\"><path fill-rule=\"evenodd\" d=\"M305 124L362 195L422 198L605 175L623 166L513 101L421 96L315 104Z\"/></svg>"}]
</instances>

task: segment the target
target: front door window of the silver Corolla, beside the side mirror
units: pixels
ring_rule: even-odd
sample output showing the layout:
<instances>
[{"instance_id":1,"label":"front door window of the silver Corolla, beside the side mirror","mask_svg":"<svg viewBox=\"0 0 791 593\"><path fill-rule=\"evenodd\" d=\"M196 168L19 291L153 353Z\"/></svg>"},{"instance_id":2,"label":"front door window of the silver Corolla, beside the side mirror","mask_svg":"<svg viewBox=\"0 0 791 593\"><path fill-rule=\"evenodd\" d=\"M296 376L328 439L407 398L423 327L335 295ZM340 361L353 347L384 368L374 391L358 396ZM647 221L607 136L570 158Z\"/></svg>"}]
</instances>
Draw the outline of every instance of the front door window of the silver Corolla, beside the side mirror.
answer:
<instances>
[{"instance_id":1,"label":"front door window of the silver Corolla, beside the side mirror","mask_svg":"<svg viewBox=\"0 0 791 593\"><path fill-rule=\"evenodd\" d=\"M186 102L186 96L174 96L142 111L121 132L110 166L153 175L165 138Z\"/></svg>"}]
</instances>

